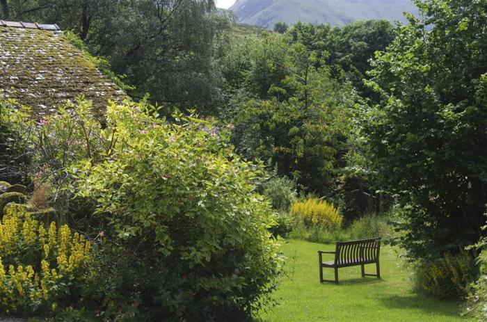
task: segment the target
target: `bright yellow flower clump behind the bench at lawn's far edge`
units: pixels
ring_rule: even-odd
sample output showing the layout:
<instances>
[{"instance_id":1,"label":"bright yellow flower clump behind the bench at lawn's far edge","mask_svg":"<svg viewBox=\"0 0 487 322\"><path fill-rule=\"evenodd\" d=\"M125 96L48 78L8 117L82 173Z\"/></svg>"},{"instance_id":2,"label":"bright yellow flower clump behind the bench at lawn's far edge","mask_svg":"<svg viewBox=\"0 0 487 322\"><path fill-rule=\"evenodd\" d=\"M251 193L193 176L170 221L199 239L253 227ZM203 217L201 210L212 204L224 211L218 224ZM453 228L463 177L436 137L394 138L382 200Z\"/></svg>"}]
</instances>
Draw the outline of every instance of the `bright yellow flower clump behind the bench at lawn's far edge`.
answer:
<instances>
[{"instance_id":1,"label":"bright yellow flower clump behind the bench at lawn's far edge","mask_svg":"<svg viewBox=\"0 0 487 322\"><path fill-rule=\"evenodd\" d=\"M333 204L317 198L294 202L291 214L306 225L317 225L327 229L340 227L343 220L340 211Z\"/></svg>"}]
</instances>

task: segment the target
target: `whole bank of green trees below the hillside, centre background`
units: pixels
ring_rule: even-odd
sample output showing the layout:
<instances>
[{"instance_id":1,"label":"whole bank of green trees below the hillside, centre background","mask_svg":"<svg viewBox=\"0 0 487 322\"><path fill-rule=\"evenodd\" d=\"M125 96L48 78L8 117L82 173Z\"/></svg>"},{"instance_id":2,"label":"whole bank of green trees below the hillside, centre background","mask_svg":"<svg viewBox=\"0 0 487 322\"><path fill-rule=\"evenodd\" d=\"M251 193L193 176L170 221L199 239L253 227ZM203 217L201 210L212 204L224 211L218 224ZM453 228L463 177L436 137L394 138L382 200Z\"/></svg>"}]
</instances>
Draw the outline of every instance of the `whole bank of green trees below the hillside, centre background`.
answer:
<instances>
[{"instance_id":1,"label":"whole bank of green trees below the hillside, centre background","mask_svg":"<svg viewBox=\"0 0 487 322\"><path fill-rule=\"evenodd\" d=\"M360 186L348 185L349 191L372 191L375 178L368 164L349 157L363 158L366 150L353 121L360 112L353 86L362 84L374 51L392 38L388 22L344 29L296 24L285 35L230 45L223 56L230 99L221 113L234 126L237 152L270 161L279 175L295 179L308 192L335 195L345 171L355 172L360 181ZM353 170L359 167L362 174Z\"/></svg>"}]
</instances>

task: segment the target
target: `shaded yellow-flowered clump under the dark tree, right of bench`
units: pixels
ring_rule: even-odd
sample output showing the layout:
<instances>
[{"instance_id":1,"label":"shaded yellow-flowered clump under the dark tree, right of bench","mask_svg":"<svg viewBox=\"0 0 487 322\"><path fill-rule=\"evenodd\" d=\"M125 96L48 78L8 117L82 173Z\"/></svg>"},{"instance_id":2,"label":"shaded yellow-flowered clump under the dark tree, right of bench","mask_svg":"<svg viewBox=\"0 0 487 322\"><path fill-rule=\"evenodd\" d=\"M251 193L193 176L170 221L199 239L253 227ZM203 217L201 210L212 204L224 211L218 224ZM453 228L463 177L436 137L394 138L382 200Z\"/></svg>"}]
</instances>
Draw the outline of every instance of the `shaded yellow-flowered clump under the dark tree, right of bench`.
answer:
<instances>
[{"instance_id":1,"label":"shaded yellow-flowered clump under the dark tree, right of bench","mask_svg":"<svg viewBox=\"0 0 487 322\"><path fill-rule=\"evenodd\" d=\"M464 298L477 275L475 261L467 252L421 261L415 271L417 287L437 298Z\"/></svg>"}]
</instances>

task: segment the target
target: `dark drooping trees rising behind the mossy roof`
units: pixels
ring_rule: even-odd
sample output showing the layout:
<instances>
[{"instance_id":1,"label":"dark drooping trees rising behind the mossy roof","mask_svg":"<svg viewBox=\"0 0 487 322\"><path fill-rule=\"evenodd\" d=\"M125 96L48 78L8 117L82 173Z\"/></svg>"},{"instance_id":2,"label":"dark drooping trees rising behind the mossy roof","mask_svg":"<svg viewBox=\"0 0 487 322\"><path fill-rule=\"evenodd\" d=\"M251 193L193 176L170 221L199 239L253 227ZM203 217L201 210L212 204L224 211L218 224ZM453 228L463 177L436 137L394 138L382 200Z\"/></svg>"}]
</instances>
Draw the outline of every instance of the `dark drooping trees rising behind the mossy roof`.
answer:
<instances>
[{"instance_id":1,"label":"dark drooping trees rising behind the mossy roof","mask_svg":"<svg viewBox=\"0 0 487 322\"><path fill-rule=\"evenodd\" d=\"M209 113L221 99L214 45L230 17L213 0L7 0L10 19L58 24L79 35L111 77L126 75L132 97ZM121 84L115 78L117 83ZM128 88L127 88L128 89Z\"/></svg>"}]
</instances>

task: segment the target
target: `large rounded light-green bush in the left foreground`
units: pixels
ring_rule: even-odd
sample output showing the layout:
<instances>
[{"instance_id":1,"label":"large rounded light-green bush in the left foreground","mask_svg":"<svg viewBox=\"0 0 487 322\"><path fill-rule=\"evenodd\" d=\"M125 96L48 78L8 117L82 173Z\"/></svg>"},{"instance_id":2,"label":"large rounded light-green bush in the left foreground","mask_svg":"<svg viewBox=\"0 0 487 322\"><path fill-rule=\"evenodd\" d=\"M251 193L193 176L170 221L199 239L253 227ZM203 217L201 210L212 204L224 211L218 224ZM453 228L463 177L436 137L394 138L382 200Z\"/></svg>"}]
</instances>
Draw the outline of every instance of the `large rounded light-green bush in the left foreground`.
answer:
<instances>
[{"instance_id":1,"label":"large rounded light-green bush in the left foreground","mask_svg":"<svg viewBox=\"0 0 487 322\"><path fill-rule=\"evenodd\" d=\"M109 106L111 154L74 172L79 196L107 223L106 303L151 321L257 312L281 267L275 216L255 191L262 166L239 159L209 121L176 115L167 124L132 107Z\"/></svg>"}]
</instances>

